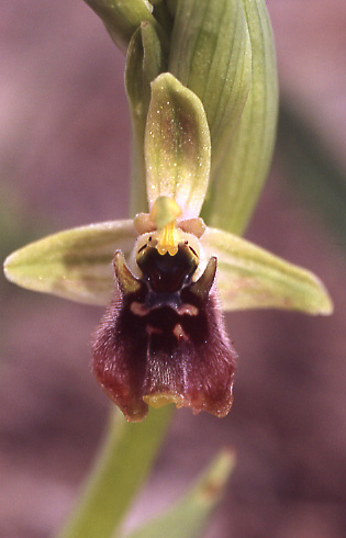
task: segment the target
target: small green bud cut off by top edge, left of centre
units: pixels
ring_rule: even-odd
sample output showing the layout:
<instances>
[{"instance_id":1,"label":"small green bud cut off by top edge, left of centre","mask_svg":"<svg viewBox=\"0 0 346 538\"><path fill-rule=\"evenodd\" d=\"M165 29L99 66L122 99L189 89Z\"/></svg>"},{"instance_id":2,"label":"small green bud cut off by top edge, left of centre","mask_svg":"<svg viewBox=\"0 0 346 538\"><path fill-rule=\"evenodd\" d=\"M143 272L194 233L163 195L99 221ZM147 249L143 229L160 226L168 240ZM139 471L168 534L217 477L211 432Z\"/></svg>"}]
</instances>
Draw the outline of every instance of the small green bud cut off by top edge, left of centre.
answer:
<instances>
[{"instance_id":1,"label":"small green bud cut off by top edge, left of centre","mask_svg":"<svg viewBox=\"0 0 346 538\"><path fill-rule=\"evenodd\" d=\"M85 0L103 21L115 45L126 51L130 40L142 22L149 22L167 41L165 33L153 16L153 5L146 0Z\"/></svg>"}]
</instances>

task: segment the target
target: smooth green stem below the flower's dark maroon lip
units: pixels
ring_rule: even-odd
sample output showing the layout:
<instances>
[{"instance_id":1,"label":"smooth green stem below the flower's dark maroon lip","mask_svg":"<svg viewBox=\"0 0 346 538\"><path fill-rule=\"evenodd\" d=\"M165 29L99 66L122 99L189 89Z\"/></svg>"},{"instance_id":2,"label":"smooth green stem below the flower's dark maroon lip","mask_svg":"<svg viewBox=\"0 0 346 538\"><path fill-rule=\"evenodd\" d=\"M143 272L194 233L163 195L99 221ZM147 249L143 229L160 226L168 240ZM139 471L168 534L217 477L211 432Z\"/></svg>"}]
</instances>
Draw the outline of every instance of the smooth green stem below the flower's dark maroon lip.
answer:
<instances>
[{"instance_id":1,"label":"smooth green stem below the flower's dark maroon lip","mask_svg":"<svg viewBox=\"0 0 346 538\"><path fill-rule=\"evenodd\" d=\"M150 410L143 423L114 414L79 505L58 538L114 536L154 462L172 408Z\"/></svg>"}]
</instances>

